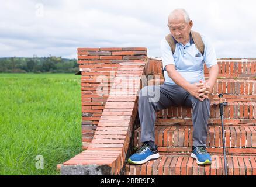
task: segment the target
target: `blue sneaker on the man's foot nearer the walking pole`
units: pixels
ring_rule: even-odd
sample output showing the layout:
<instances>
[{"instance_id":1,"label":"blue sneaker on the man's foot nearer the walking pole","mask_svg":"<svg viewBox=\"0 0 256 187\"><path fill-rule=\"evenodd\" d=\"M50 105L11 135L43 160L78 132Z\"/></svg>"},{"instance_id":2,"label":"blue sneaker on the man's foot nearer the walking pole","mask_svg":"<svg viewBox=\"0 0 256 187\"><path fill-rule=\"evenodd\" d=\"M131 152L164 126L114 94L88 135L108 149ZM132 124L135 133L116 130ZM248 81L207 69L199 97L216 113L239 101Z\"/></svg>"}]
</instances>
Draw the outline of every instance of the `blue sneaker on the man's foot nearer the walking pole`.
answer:
<instances>
[{"instance_id":1,"label":"blue sneaker on the man's foot nearer the walking pole","mask_svg":"<svg viewBox=\"0 0 256 187\"><path fill-rule=\"evenodd\" d=\"M212 164L212 158L203 146L192 147L191 157L196 159L198 165Z\"/></svg>"}]
</instances>

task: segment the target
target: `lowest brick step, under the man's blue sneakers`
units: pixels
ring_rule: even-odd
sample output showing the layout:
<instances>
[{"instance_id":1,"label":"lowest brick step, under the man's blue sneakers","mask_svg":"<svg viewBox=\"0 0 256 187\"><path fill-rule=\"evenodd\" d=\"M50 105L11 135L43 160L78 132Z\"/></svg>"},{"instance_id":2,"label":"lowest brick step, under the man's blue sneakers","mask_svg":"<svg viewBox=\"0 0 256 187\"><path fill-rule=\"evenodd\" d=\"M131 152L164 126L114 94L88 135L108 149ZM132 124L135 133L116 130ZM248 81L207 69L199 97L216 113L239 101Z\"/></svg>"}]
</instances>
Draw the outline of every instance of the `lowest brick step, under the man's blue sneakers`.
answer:
<instances>
[{"instance_id":1,"label":"lowest brick step, under the man's blue sneakers","mask_svg":"<svg viewBox=\"0 0 256 187\"><path fill-rule=\"evenodd\" d=\"M229 175L256 175L255 156L227 156ZM224 158L212 155L212 164L198 165L189 155L161 155L146 164L126 164L125 175L224 175Z\"/></svg>"}]
</instances>

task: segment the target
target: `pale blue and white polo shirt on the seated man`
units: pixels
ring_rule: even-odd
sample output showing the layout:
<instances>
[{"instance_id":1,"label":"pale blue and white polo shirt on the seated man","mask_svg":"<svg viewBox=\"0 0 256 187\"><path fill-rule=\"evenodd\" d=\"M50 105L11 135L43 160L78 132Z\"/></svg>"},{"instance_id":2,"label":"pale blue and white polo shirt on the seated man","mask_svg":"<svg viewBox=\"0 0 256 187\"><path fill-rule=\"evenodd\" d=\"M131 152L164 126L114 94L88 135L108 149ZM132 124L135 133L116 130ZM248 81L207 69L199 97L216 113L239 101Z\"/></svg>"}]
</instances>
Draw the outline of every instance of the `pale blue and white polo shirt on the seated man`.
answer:
<instances>
[{"instance_id":1,"label":"pale blue and white polo shirt on the seated man","mask_svg":"<svg viewBox=\"0 0 256 187\"><path fill-rule=\"evenodd\" d=\"M215 49L212 43L210 43L203 34L201 34L201 36L203 43L205 44L205 53L203 56L196 48L192 37L190 37L190 40L185 44L185 46L174 39L176 49L173 55L167 40L165 38L162 39L162 66L164 68L164 78L167 84L175 84L175 82L168 76L167 71L165 70L166 65L175 65L179 74L181 74L182 77L191 84L199 82L199 80L205 81L204 63L207 68L217 65Z\"/></svg>"}]
</instances>

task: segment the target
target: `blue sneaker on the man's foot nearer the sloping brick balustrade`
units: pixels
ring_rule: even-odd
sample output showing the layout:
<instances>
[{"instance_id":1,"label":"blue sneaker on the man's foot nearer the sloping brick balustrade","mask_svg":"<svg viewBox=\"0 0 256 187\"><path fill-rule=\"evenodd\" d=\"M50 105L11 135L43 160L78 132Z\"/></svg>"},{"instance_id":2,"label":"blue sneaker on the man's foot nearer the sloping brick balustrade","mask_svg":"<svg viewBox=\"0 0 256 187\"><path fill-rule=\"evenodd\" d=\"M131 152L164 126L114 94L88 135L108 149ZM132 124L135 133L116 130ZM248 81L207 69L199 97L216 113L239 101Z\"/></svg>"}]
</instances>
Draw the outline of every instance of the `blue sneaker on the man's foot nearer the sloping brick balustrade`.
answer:
<instances>
[{"instance_id":1,"label":"blue sneaker on the man's foot nearer the sloping brick balustrade","mask_svg":"<svg viewBox=\"0 0 256 187\"><path fill-rule=\"evenodd\" d=\"M140 150L138 150L128 159L128 162L130 164L144 164L149 160L154 160L157 158L159 158L157 147L155 150L151 150L147 143L144 143Z\"/></svg>"}]
</instances>

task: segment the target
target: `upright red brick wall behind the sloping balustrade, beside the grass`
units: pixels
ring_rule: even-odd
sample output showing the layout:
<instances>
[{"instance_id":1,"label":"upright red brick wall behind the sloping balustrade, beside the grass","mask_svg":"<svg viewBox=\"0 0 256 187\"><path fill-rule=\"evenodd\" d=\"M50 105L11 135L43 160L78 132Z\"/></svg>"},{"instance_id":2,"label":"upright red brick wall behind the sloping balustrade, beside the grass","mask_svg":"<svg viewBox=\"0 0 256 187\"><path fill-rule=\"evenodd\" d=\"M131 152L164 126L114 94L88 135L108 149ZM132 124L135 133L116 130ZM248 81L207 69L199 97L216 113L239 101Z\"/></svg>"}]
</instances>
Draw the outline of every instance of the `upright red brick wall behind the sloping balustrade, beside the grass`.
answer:
<instances>
[{"instance_id":1,"label":"upright red brick wall behind the sloping balustrade, beside the grass","mask_svg":"<svg viewBox=\"0 0 256 187\"><path fill-rule=\"evenodd\" d=\"M120 63L147 60L147 49L145 47L82 47L77 49L77 58L82 74L82 148L87 149L94 137ZM152 60L151 64L156 62L160 64L159 60ZM155 68L154 70L149 68L148 71L155 71ZM99 93L101 88L104 89Z\"/></svg>"}]
</instances>

